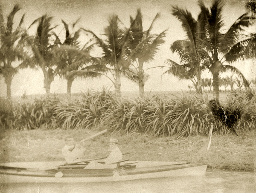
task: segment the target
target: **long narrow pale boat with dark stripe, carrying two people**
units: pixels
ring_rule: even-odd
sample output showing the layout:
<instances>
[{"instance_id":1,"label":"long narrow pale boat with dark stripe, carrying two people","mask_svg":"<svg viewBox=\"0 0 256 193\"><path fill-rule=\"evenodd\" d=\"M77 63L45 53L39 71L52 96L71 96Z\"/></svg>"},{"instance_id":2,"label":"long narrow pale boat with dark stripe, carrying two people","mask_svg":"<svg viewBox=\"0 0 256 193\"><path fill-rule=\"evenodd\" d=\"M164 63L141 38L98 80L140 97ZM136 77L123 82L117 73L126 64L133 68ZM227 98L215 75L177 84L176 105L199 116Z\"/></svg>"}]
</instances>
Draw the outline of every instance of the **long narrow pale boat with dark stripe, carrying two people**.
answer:
<instances>
[{"instance_id":1,"label":"long narrow pale boat with dark stripe, carrying two people","mask_svg":"<svg viewBox=\"0 0 256 193\"><path fill-rule=\"evenodd\" d=\"M186 162L123 162L118 168L83 169L85 164L40 170L61 162L16 162L0 164L0 180L6 183L85 183L204 175L205 164ZM57 174L61 173L61 177Z\"/></svg>"}]
</instances>

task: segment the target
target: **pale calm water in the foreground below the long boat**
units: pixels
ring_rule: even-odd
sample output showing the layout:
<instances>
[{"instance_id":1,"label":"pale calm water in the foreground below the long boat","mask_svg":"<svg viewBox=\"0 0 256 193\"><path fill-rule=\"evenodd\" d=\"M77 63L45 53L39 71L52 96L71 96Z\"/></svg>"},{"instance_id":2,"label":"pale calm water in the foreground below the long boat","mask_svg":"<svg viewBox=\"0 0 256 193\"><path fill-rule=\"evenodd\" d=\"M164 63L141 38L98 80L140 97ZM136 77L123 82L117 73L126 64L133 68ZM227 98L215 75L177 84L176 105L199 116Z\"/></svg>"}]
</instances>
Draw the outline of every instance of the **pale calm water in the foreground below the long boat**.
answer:
<instances>
[{"instance_id":1,"label":"pale calm water in the foreground below the long boat","mask_svg":"<svg viewBox=\"0 0 256 193\"><path fill-rule=\"evenodd\" d=\"M87 184L8 184L1 193L256 193L254 173L207 170L205 176Z\"/></svg>"}]
</instances>

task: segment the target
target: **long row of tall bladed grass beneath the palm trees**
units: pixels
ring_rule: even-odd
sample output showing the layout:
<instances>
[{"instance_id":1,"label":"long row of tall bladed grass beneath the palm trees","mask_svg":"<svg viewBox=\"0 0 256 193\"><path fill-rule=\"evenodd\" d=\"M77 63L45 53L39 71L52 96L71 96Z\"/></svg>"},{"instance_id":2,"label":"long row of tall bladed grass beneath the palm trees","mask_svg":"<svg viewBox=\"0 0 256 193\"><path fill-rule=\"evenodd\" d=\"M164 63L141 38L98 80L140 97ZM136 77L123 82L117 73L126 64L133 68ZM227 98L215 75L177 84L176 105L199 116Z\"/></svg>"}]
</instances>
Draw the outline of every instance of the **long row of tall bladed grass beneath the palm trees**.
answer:
<instances>
[{"instance_id":1,"label":"long row of tall bladed grass beneath the palm trees","mask_svg":"<svg viewBox=\"0 0 256 193\"><path fill-rule=\"evenodd\" d=\"M87 91L65 99L57 95L14 102L13 110L0 103L1 126L17 129L63 128L93 129L106 127L124 133L152 136L207 135L210 124L215 133L230 129L214 119L207 106L208 96L153 97L118 99L111 91ZM232 92L223 102L230 111L240 111L236 131L255 129L256 96L253 91Z\"/></svg>"}]
</instances>

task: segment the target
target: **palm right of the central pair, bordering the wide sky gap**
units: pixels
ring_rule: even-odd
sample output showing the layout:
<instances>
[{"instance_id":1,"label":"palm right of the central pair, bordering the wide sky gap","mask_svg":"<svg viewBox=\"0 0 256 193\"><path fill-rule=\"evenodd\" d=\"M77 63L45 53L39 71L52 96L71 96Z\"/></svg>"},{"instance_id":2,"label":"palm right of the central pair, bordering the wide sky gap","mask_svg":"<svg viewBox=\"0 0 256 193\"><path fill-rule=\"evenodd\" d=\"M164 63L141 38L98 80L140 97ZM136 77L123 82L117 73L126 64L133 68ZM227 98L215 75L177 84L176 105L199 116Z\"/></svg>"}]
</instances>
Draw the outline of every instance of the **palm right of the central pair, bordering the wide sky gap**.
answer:
<instances>
[{"instance_id":1,"label":"palm right of the central pair, bordering the wide sky gap","mask_svg":"<svg viewBox=\"0 0 256 193\"><path fill-rule=\"evenodd\" d=\"M148 78L148 75L144 73L143 65L146 62L154 60L154 56L157 53L159 46L165 41L163 38L166 35L166 31L160 34L151 34L154 22L160 14L154 17L148 30L143 31L143 20L140 9L137 9L137 15L135 18L130 17L131 26L128 28L128 40L125 43L124 53L126 55L126 61L131 63L133 68L124 70L125 76L139 85L140 97L145 95L144 84Z\"/></svg>"}]
</instances>

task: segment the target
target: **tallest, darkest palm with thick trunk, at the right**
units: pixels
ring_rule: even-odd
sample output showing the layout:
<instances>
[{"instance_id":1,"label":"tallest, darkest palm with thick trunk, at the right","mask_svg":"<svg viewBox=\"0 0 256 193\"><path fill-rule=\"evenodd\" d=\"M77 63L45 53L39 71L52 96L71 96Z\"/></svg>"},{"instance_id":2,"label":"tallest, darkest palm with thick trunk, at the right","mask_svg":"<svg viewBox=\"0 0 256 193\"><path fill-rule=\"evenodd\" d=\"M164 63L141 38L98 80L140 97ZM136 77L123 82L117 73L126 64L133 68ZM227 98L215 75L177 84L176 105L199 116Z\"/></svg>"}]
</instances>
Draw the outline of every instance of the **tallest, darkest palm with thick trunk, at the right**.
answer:
<instances>
[{"instance_id":1,"label":"tallest, darkest palm with thick trunk, at the right","mask_svg":"<svg viewBox=\"0 0 256 193\"><path fill-rule=\"evenodd\" d=\"M205 9L204 3L199 2L201 9ZM224 65L222 61L224 58L227 60L227 56L233 55L231 48L233 45L238 43L241 31L244 30L243 27L248 27L250 25L250 20L247 14L241 15L233 25L223 34L223 17L221 15L222 11L222 1L214 0L210 10L207 10L206 17L207 23L205 26L204 38L200 39L200 44L207 52L202 52L204 57L207 57L209 64L206 67L212 73L212 85L213 91L215 92L216 99L219 99L219 74L226 70L231 70L238 74L244 81L244 85L248 87L248 82L244 75L239 71L239 69L231 66ZM221 55L223 56L222 58Z\"/></svg>"}]
</instances>

